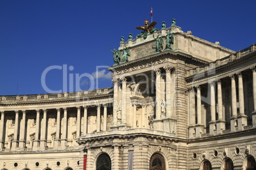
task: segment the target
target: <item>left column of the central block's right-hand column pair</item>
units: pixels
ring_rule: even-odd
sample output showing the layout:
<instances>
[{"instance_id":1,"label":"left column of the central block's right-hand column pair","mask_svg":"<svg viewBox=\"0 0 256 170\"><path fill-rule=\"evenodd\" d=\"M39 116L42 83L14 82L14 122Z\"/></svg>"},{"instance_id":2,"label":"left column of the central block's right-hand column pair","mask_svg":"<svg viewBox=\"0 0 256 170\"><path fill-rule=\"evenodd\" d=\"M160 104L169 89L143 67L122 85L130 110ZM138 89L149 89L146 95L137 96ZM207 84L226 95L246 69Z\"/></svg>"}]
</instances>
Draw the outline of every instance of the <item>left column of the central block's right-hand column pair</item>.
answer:
<instances>
[{"instance_id":1,"label":"left column of the central block's right-hand column pair","mask_svg":"<svg viewBox=\"0 0 256 170\"><path fill-rule=\"evenodd\" d=\"M160 131L161 130L161 70L160 69L155 69L155 119L153 120L153 128L155 130Z\"/></svg>"}]
</instances>

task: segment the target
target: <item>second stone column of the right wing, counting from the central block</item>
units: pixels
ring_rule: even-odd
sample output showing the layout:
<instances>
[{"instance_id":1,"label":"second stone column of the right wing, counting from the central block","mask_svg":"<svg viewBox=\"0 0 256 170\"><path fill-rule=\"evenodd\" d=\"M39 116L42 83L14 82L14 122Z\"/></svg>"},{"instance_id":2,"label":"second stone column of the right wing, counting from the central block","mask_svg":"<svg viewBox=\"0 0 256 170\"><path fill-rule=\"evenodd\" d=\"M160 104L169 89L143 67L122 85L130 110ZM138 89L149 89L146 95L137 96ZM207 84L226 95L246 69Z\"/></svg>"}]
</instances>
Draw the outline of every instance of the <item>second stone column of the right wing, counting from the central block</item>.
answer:
<instances>
[{"instance_id":1,"label":"second stone column of the right wing, counting from the central block","mask_svg":"<svg viewBox=\"0 0 256 170\"><path fill-rule=\"evenodd\" d=\"M196 86L197 89L197 124L196 124L196 137L201 137L204 132L204 124L202 123L202 101L201 101L201 88Z\"/></svg>"}]
</instances>

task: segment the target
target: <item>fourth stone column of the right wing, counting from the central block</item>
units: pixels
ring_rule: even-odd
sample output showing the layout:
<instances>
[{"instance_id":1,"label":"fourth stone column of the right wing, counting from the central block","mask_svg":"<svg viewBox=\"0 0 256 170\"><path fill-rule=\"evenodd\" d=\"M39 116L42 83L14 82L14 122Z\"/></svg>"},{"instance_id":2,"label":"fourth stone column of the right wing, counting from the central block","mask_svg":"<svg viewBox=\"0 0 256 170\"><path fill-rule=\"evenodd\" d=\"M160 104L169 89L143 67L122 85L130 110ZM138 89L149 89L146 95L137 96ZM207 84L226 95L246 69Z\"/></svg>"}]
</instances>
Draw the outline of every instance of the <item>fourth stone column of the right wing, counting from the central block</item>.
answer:
<instances>
[{"instance_id":1,"label":"fourth stone column of the right wing, counting from the central block","mask_svg":"<svg viewBox=\"0 0 256 170\"><path fill-rule=\"evenodd\" d=\"M217 122L217 134L222 134L225 130L225 120L223 119L222 110L222 82L220 79L217 80L217 91L218 91L218 120Z\"/></svg>"}]
</instances>

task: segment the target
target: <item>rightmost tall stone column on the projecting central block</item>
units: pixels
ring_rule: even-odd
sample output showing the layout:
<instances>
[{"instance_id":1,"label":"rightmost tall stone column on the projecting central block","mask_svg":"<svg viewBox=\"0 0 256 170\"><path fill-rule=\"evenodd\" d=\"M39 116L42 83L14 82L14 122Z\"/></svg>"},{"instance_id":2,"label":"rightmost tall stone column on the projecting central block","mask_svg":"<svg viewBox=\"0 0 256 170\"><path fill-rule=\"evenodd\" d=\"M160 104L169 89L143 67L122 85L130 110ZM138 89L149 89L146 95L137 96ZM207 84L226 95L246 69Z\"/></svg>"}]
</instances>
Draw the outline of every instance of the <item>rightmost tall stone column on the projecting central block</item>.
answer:
<instances>
[{"instance_id":1,"label":"rightmost tall stone column on the projecting central block","mask_svg":"<svg viewBox=\"0 0 256 170\"><path fill-rule=\"evenodd\" d=\"M166 118L169 118L171 117L171 110L173 107L171 98L171 67L167 65L164 69L166 70Z\"/></svg>"}]
</instances>

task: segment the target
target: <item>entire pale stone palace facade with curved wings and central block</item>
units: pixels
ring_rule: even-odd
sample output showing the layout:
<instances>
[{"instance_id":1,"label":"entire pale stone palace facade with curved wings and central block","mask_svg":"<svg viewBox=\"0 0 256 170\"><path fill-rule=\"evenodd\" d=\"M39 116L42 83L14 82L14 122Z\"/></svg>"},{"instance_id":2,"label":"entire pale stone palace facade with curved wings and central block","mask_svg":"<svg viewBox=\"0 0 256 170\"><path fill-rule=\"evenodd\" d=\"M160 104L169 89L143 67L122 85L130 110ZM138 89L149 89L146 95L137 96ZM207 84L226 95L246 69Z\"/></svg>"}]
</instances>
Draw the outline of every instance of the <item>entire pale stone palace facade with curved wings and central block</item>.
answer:
<instances>
[{"instance_id":1,"label":"entire pale stone palace facade with curved wings and central block","mask_svg":"<svg viewBox=\"0 0 256 170\"><path fill-rule=\"evenodd\" d=\"M255 168L255 44L173 24L117 51L113 88L0 96L0 169Z\"/></svg>"}]
</instances>

